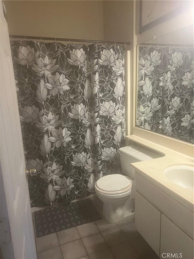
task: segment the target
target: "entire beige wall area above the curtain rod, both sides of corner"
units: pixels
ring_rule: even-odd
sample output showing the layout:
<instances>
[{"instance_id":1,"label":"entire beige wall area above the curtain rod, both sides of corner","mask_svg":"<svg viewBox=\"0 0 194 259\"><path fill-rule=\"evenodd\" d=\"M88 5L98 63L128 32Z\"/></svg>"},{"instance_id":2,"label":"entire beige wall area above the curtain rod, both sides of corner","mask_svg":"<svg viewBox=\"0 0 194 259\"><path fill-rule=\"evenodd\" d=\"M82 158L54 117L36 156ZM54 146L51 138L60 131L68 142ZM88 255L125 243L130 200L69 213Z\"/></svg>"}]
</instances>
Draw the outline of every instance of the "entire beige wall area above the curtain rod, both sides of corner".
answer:
<instances>
[{"instance_id":1,"label":"entire beige wall area above the curtain rod, both sides of corner","mask_svg":"<svg viewBox=\"0 0 194 259\"><path fill-rule=\"evenodd\" d=\"M5 1L9 33L133 41L133 1Z\"/></svg>"}]
</instances>

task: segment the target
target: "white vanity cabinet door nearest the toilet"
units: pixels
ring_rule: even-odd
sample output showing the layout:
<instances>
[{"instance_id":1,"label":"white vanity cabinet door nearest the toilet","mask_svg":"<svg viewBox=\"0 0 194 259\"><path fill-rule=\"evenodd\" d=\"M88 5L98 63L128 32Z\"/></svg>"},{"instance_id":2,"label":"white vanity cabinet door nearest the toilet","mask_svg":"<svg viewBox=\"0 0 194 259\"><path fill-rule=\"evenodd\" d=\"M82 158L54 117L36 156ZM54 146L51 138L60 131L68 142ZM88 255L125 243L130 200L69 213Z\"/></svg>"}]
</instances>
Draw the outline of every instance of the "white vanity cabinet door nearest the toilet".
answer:
<instances>
[{"instance_id":1,"label":"white vanity cabinet door nearest the toilet","mask_svg":"<svg viewBox=\"0 0 194 259\"><path fill-rule=\"evenodd\" d=\"M135 192L135 227L159 256L161 213L140 193Z\"/></svg>"}]
</instances>

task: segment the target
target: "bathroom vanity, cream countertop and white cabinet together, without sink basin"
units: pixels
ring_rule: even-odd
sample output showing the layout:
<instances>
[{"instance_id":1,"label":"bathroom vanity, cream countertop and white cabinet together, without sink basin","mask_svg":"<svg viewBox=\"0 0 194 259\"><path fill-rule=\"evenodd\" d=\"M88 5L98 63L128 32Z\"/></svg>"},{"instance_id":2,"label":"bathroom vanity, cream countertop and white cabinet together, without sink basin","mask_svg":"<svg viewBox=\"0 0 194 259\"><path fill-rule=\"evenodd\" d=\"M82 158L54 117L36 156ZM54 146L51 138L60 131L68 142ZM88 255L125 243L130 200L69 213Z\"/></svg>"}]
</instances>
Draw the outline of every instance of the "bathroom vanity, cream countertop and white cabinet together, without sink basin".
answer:
<instances>
[{"instance_id":1,"label":"bathroom vanity, cream countertop and white cabinet together, without sink basin","mask_svg":"<svg viewBox=\"0 0 194 259\"><path fill-rule=\"evenodd\" d=\"M164 174L169 166L181 164L193 170L193 158L135 136L129 139L164 154L132 164L136 182L135 227L160 258L167 258L167 253L169 258L194 258L193 171L189 188Z\"/></svg>"}]
</instances>

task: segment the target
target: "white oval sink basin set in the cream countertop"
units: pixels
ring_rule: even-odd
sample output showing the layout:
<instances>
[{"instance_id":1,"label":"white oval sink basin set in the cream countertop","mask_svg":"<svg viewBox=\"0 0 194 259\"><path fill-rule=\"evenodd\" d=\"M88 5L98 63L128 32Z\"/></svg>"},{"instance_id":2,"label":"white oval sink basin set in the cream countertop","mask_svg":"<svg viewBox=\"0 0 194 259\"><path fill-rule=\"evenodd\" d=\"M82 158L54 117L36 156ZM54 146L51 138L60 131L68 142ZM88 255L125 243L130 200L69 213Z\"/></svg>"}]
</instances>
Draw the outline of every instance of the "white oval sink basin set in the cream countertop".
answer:
<instances>
[{"instance_id":1,"label":"white oval sink basin set in the cream countertop","mask_svg":"<svg viewBox=\"0 0 194 259\"><path fill-rule=\"evenodd\" d=\"M194 167L188 165L173 165L164 169L163 174L171 182L184 188L193 189Z\"/></svg>"}]
</instances>

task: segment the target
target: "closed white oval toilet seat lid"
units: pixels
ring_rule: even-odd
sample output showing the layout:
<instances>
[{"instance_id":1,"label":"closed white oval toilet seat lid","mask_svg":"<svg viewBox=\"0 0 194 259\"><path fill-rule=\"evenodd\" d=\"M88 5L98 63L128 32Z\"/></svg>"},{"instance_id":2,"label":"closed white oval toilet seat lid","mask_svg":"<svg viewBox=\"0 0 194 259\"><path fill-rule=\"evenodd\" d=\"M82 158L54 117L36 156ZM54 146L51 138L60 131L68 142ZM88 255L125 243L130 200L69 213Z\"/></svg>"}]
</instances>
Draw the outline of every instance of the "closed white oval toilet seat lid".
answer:
<instances>
[{"instance_id":1,"label":"closed white oval toilet seat lid","mask_svg":"<svg viewBox=\"0 0 194 259\"><path fill-rule=\"evenodd\" d=\"M96 182L98 189L106 192L120 192L126 188L130 189L131 184L131 180L119 174L104 176Z\"/></svg>"}]
</instances>

